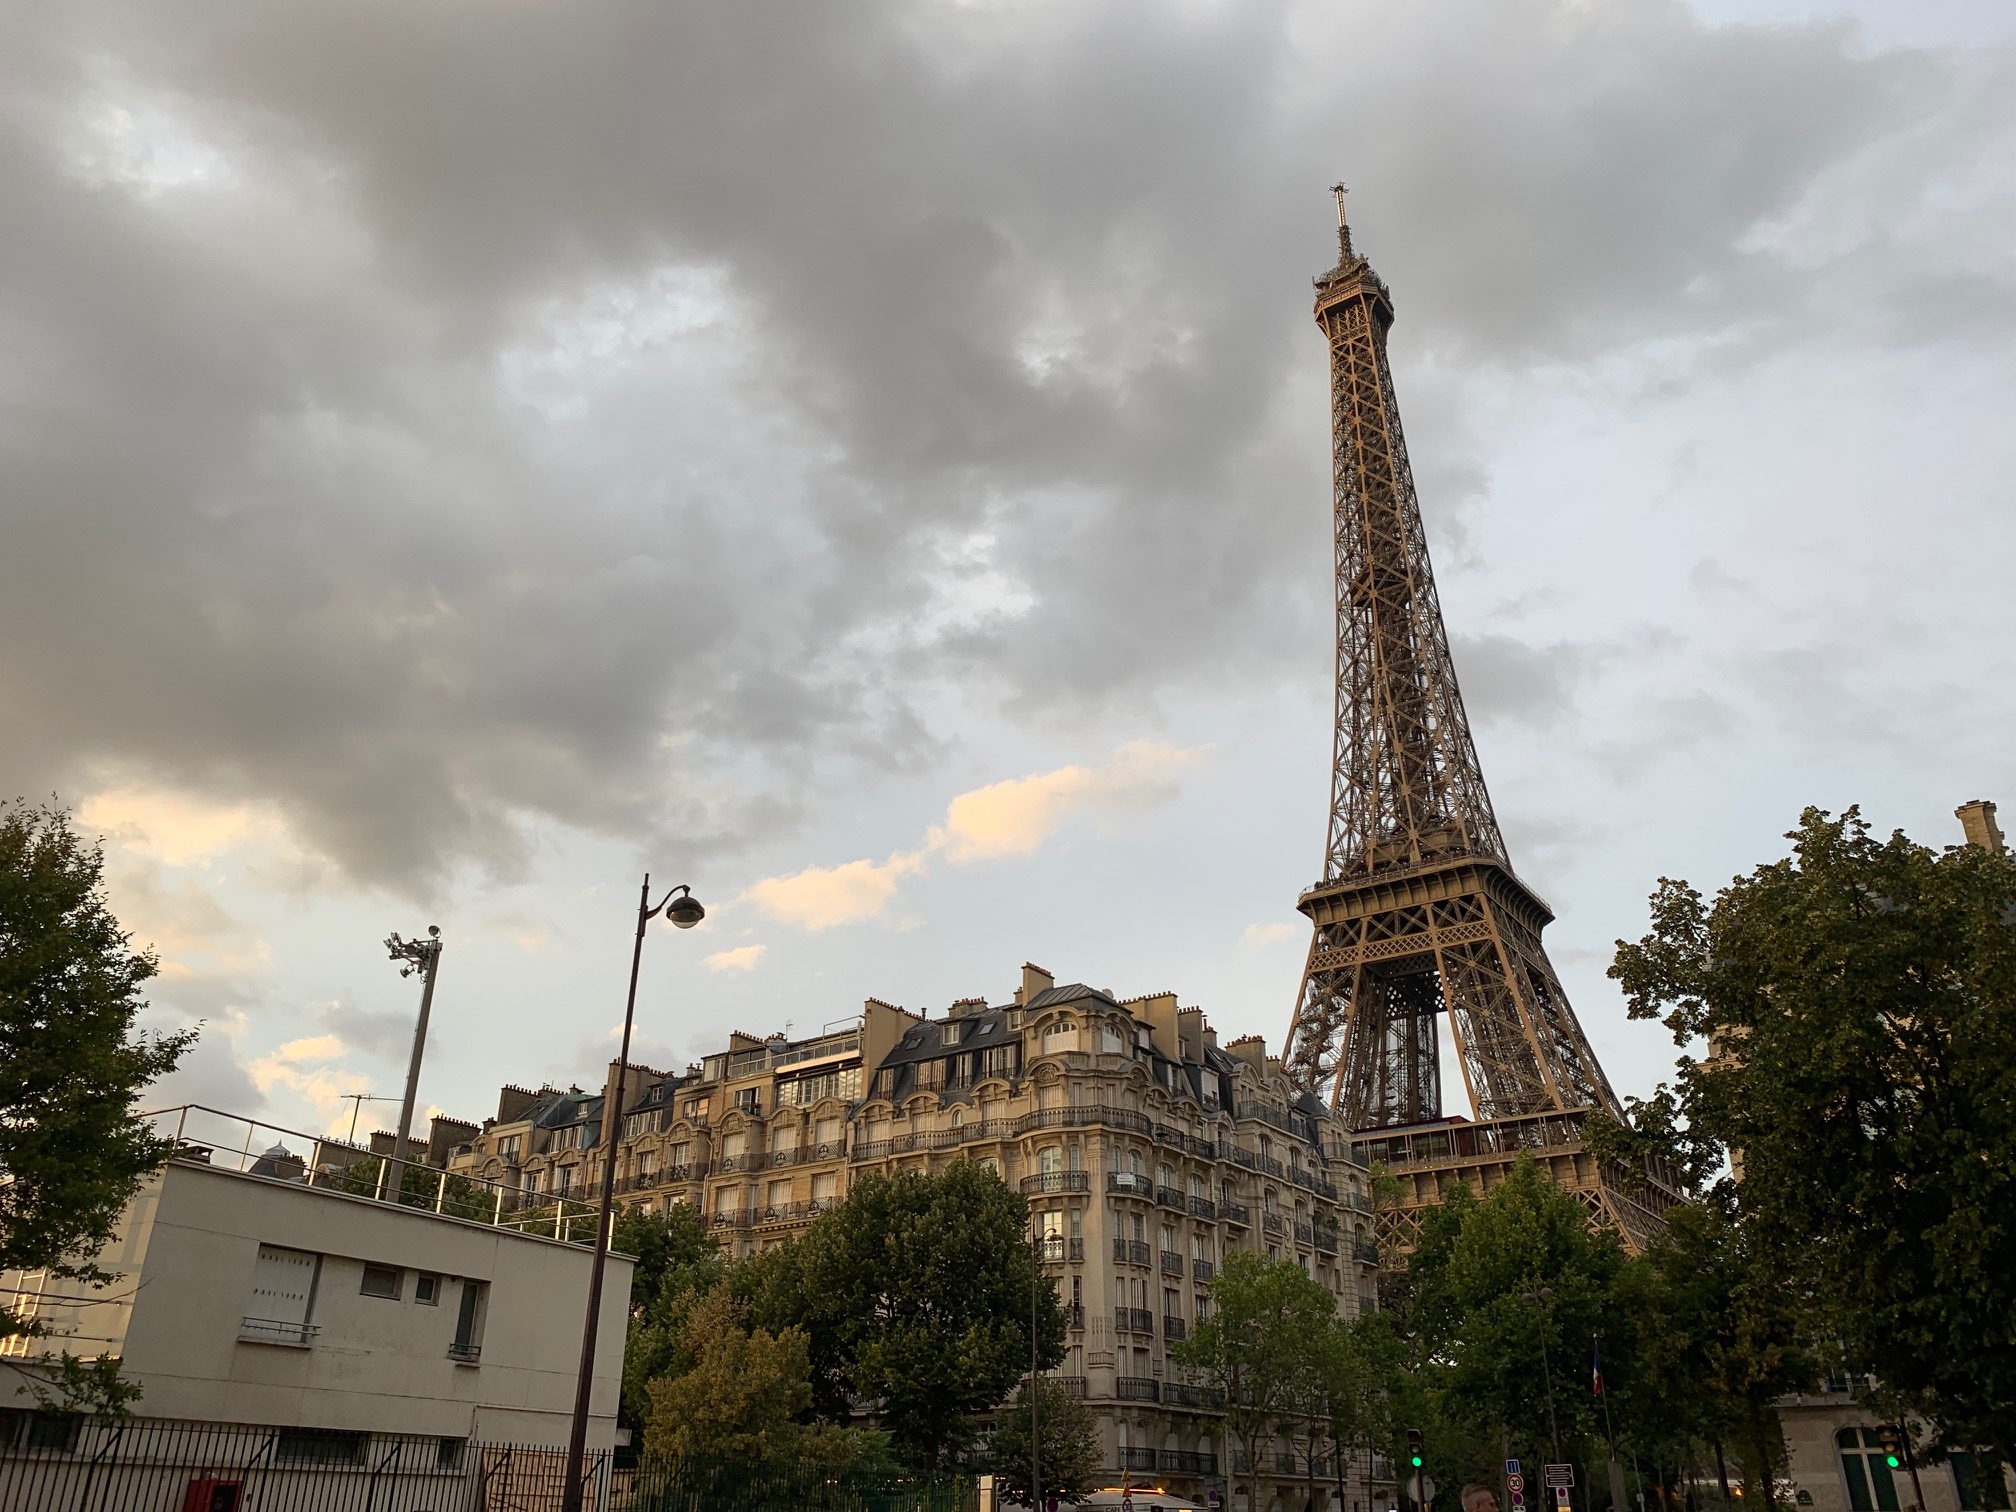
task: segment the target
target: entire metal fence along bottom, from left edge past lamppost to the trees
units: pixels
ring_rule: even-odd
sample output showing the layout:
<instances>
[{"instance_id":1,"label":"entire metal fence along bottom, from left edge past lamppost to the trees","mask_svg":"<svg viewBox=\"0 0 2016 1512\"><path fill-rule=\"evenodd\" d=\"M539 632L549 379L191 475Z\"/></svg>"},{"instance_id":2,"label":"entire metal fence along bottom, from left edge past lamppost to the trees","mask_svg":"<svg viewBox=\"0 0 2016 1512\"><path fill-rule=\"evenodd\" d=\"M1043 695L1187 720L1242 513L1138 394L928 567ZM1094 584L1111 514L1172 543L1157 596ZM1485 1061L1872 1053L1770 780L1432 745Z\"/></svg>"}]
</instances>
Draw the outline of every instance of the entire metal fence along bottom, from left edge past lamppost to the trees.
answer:
<instances>
[{"instance_id":1,"label":"entire metal fence along bottom, from left edge past lamppost to the trees","mask_svg":"<svg viewBox=\"0 0 2016 1512\"><path fill-rule=\"evenodd\" d=\"M413 1433L0 1411L4 1512L558 1512L566 1452ZM587 1466L591 1512L976 1512L970 1476L800 1462Z\"/></svg>"}]
</instances>

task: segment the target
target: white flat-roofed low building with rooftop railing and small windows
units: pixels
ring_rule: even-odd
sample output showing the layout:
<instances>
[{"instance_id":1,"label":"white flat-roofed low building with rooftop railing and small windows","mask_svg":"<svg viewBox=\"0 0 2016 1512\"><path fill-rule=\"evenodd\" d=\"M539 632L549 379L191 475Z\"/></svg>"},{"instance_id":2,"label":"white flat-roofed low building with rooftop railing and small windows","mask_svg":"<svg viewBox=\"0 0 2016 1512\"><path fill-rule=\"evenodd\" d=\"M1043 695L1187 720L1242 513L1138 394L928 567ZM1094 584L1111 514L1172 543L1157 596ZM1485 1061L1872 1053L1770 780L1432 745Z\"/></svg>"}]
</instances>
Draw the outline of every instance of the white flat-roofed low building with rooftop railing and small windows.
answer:
<instances>
[{"instance_id":1,"label":"white flat-roofed low building with rooftop railing and small windows","mask_svg":"<svg viewBox=\"0 0 2016 1512\"><path fill-rule=\"evenodd\" d=\"M439 1195L409 1185L413 1206L353 1195L329 1183L312 1137L290 1147L240 1121L256 1129L240 1141L222 1115L198 1113L157 1115L181 1131L183 1153L99 1254L119 1272L113 1286L0 1276L46 1329L6 1341L0 1405L28 1405L10 1363L67 1351L117 1355L147 1419L566 1441L587 1246L518 1228L506 1204L446 1173L415 1173ZM355 1173L347 1183L369 1189ZM615 1443L629 1284L631 1260L609 1256L591 1447Z\"/></svg>"}]
</instances>

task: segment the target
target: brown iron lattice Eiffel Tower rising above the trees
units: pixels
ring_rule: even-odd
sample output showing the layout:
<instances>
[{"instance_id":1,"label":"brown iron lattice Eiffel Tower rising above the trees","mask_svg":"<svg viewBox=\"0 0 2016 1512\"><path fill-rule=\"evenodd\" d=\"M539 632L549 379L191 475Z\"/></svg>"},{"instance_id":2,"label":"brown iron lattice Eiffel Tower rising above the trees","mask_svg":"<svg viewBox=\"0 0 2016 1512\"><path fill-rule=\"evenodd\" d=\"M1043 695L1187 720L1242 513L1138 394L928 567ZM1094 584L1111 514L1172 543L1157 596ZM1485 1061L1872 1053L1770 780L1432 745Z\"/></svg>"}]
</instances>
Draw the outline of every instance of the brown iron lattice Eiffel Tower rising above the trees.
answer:
<instances>
[{"instance_id":1,"label":"brown iron lattice Eiffel Tower rising above the trees","mask_svg":"<svg viewBox=\"0 0 2016 1512\"><path fill-rule=\"evenodd\" d=\"M1387 331L1393 296L1351 246L1316 278L1331 345L1337 744L1322 881L1286 1066L1403 1183L1387 1256L1413 1248L1450 1179L1482 1191L1522 1151L1633 1250L1677 1198L1599 1169L1591 1111L1621 1117L1540 931L1554 915L1512 871L1450 661L1407 466ZM1437 1014L1450 1016L1470 1119L1445 1119Z\"/></svg>"}]
</instances>

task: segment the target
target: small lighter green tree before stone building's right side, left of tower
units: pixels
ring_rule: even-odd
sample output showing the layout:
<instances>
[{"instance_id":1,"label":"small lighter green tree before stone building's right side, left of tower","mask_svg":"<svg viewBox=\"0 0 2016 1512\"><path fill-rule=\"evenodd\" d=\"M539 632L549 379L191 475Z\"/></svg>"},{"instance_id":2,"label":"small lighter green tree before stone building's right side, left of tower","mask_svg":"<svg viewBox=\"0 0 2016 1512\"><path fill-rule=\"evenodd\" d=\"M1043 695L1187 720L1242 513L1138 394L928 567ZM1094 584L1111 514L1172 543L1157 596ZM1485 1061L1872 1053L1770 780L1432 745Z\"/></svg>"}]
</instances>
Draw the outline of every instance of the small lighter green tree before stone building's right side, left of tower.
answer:
<instances>
[{"instance_id":1,"label":"small lighter green tree before stone building's right side, left of tower","mask_svg":"<svg viewBox=\"0 0 2016 1512\"><path fill-rule=\"evenodd\" d=\"M1260 1445L1316 1411L1335 1327L1337 1298L1298 1264L1226 1250L1212 1314L1169 1345L1169 1359L1224 1393L1226 1429L1258 1474Z\"/></svg>"}]
</instances>

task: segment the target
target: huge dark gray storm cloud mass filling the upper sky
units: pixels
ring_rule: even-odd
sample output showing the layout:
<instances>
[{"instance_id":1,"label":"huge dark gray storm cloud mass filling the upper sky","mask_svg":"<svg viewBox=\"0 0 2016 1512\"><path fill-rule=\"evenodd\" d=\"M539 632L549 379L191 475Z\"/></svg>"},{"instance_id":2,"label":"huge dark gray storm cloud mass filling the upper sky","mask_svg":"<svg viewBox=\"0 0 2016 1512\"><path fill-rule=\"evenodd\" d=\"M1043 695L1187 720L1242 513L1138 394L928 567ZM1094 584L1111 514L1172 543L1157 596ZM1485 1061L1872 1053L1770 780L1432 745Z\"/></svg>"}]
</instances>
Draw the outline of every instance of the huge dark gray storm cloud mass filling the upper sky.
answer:
<instances>
[{"instance_id":1,"label":"huge dark gray storm cloud mass filling the upper sky","mask_svg":"<svg viewBox=\"0 0 2016 1512\"><path fill-rule=\"evenodd\" d=\"M2010 310L1810 214L1962 159L1986 83L1677 4L0 28L0 768L258 794L399 889L544 821L776 835L948 738L933 687L1300 667L1337 175L1423 411Z\"/></svg>"}]
</instances>

